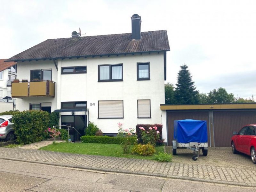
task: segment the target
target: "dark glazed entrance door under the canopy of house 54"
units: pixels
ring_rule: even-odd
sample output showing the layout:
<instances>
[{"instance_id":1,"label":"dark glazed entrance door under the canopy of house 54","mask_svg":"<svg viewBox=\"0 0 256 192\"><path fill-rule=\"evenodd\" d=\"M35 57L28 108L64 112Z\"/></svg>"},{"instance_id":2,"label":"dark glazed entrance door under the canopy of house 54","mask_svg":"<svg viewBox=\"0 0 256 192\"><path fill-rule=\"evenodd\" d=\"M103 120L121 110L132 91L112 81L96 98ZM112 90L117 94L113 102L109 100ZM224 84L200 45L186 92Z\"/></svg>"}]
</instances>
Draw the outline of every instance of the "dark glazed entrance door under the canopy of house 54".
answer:
<instances>
[{"instance_id":1,"label":"dark glazed entrance door under the canopy of house 54","mask_svg":"<svg viewBox=\"0 0 256 192\"><path fill-rule=\"evenodd\" d=\"M76 130L80 133L78 135L78 140L84 135L84 129L86 125L86 116L84 115L65 115L61 116L61 125L68 125L75 127ZM77 132L74 129L69 130L70 139L72 141L77 141Z\"/></svg>"}]
</instances>

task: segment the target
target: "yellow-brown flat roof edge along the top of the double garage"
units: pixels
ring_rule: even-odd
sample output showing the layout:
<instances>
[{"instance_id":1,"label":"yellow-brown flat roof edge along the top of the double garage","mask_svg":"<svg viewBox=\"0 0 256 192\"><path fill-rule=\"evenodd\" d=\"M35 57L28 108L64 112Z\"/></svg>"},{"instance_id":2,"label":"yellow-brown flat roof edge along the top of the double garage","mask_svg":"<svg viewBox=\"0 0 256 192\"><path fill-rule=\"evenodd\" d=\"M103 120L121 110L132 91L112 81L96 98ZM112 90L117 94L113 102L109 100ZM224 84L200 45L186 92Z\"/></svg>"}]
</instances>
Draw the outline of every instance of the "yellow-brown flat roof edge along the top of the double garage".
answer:
<instances>
[{"instance_id":1,"label":"yellow-brown flat roof edge along the top of the double garage","mask_svg":"<svg viewBox=\"0 0 256 192\"><path fill-rule=\"evenodd\" d=\"M160 105L161 110L256 109L256 103Z\"/></svg>"}]
</instances>

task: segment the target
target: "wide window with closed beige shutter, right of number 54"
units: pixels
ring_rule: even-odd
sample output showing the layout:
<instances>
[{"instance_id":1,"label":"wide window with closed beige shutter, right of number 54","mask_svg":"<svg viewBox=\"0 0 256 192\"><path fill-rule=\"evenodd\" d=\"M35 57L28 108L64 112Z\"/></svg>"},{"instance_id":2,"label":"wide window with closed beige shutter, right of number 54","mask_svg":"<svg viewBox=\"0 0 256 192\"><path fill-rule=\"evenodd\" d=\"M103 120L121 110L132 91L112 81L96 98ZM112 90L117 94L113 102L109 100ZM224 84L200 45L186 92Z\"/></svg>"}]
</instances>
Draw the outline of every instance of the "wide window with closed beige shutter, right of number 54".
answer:
<instances>
[{"instance_id":1,"label":"wide window with closed beige shutter, right of number 54","mask_svg":"<svg viewBox=\"0 0 256 192\"><path fill-rule=\"evenodd\" d=\"M98 101L98 118L124 118L124 101Z\"/></svg>"}]
</instances>

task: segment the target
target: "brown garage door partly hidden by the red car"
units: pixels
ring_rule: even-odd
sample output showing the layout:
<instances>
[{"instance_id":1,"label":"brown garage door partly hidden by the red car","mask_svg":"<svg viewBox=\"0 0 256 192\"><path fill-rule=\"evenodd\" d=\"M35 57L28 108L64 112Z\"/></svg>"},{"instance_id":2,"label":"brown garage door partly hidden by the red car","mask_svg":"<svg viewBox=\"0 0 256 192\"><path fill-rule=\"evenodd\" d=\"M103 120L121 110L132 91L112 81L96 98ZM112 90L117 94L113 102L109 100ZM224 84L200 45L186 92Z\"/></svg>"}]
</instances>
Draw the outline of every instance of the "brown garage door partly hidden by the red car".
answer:
<instances>
[{"instance_id":1,"label":"brown garage door partly hidden by the red car","mask_svg":"<svg viewBox=\"0 0 256 192\"><path fill-rule=\"evenodd\" d=\"M256 123L256 111L213 111L215 147L230 147L233 131Z\"/></svg>"}]
</instances>

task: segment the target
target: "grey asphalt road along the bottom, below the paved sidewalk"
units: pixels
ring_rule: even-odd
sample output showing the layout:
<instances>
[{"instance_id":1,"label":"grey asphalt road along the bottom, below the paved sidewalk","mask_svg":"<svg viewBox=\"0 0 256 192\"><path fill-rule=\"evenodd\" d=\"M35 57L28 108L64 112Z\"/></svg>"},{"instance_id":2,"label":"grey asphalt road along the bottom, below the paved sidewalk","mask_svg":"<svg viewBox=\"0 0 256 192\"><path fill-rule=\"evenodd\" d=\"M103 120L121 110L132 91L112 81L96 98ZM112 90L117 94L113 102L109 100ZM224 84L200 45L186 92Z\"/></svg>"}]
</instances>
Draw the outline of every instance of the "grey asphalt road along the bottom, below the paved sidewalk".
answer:
<instances>
[{"instance_id":1,"label":"grey asphalt road along the bottom, below the paved sidewalk","mask_svg":"<svg viewBox=\"0 0 256 192\"><path fill-rule=\"evenodd\" d=\"M251 192L255 188L174 180L121 173L95 172L0 159L0 192L20 191L156 191Z\"/></svg>"}]
</instances>

